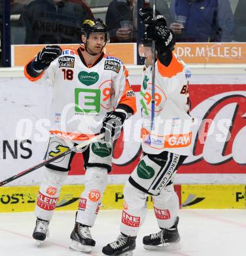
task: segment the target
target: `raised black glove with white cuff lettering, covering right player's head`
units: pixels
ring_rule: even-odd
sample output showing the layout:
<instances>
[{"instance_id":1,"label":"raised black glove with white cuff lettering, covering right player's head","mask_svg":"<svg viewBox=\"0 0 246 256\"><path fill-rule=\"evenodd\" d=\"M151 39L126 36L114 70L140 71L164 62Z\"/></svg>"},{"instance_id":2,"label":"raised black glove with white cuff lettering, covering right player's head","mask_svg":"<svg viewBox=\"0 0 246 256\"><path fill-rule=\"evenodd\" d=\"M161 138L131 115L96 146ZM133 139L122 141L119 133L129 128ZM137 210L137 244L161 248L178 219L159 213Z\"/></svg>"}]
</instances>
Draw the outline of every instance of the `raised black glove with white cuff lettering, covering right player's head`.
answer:
<instances>
[{"instance_id":1,"label":"raised black glove with white cuff lettering, covering right player's head","mask_svg":"<svg viewBox=\"0 0 246 256\"><path fill-rule=\"evenodd\" d=\"M175 45L175 36L173 31L164 24L151 24L146 29L147 38L156 41L156 50L158 53L173 51Z\"/></svg>"}]
</instances>

